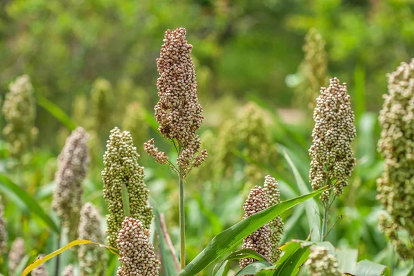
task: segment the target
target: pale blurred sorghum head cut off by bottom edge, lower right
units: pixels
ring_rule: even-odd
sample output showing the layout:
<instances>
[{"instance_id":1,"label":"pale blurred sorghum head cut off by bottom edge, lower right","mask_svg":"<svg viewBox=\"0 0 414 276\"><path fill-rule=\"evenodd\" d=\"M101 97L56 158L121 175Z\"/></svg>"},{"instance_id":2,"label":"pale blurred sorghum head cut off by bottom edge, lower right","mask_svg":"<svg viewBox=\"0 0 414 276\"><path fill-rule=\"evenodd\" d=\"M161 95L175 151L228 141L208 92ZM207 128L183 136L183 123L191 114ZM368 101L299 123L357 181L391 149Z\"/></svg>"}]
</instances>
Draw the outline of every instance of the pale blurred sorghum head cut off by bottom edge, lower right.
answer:
<instances>
[{"instance_id":1,"label":"pale blurred sorghum head cut off by bottom edge, lower right","mask_svg":"<svg viewBox=\"0 0 414 276\"><path fill-rule=\"evenodd\" d=\"M329 249L324 246L311 247L311 254L306 261L308 275L312 276L341 276L337 258L329 253Z\"/></svg>"}]
</instances>

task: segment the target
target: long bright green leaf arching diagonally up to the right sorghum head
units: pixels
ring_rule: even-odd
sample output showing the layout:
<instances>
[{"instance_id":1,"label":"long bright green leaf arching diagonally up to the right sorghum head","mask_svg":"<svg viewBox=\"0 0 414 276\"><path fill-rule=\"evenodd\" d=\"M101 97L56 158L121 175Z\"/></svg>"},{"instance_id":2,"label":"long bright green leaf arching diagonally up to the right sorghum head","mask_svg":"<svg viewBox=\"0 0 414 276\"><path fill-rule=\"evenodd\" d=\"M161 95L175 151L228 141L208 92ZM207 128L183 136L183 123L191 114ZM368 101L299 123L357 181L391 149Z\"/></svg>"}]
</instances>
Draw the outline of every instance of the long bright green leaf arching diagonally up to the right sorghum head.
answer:
<instances>
[{"instance_id":1,"label":"long bright green leaf arching diagonally up to the right sorghum head","mask_svg":"<svg viewBox=\"0 0 414 276\"><path fill-rule=\"evenodd\" d=\"M251 215L242 221L239 221L237 224L215 236L208 246L204 248L204 250L201 251L201 253L197 255L192 262L190 262L190 264L181 270L180 275L197 275L197 273L211 263L217 261L217 259L224 255L228 249L232 248L236 244L239 244L239 242L242 242L245 237L255 232L255 230L264 226L264 224L267 224L270 220L274 219L278 215L281 215L293 206L306 201L306 199L320 195L325 189L326 188L324 187L319 190L315 190L308 195L302 195L300 197L283 201L279 204L266 208L255 215Z\"/></svg>"}]
</instances>

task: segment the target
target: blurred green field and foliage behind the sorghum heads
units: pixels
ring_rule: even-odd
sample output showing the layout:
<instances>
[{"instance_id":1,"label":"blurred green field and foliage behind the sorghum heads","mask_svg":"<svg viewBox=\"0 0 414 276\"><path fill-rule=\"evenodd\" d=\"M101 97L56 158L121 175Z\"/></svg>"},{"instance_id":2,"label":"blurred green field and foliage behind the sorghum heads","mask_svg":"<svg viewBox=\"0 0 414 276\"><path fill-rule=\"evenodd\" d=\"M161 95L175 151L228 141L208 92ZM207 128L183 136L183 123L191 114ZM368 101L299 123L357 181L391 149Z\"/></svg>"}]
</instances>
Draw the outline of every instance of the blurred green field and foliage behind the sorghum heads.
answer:
<instances>
[{"instance_id":1,"label":"blurred green field and foliage behind the sorghum heads","mask_svg":"<svg viewBox=\"0 0 414 276\"><path fill-rule=\"evenodd\" d=\"M413 12L414 1L409 0L1 1L1 99L11 81L28 74L39 103L36 144L19 162L3 152L1 170L51 210L56 157L70 130L44 108L46 98L90 132L92 164L84 197L103 215L107 211L99 174L106 139L115 126L130 130L148 188L166 213L177 244L175 176L147 157L142 143L154 137L162 150L172 152L162 144L152 118L155 59L165 30L184 27L194 46L206 118L201 140L210 152L210 161L192 172L186 184L188 259L193 259L214 235L241 219L247 191L261 185L265 175L280 180L282 198L299 195L282 156L284 147L308 181L311 110L296 99L308 88L300 65L304 37L315 28L326 41L327 75L348 83L357 118L358 164L333 211L331 225L336 217L342 219L328 240L358 248L359 259L396 267L396 256L377 228L375 179L382 172L377 111L386 92L386 73L414 57ZM21 235L35 251L32 256L52 250L52 237L43 233L47 227L7 204L12 199L5 200L9 245ZM303 208L286 214L285 220L290 228L284 241L306 239Z\"/></svg>"}]
</instances>

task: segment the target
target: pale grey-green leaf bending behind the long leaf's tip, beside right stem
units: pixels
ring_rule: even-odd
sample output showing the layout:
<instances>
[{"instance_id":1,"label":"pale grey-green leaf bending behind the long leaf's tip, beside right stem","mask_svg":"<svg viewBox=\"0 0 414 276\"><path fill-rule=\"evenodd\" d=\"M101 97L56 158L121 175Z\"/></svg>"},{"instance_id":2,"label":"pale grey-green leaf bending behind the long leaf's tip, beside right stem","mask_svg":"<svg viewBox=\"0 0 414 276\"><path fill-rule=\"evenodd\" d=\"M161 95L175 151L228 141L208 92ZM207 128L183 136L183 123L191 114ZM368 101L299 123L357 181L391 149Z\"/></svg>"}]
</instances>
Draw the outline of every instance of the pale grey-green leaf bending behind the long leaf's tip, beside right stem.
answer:
<instances>
[{"instance_id":1,"label":"pale grey-green leaf bending behind the long leaf's tip, beside right stem","mask_svg":"<svg viewBox=\"0 0 414 276\"><path fill-rule=\"evenodd\" d=\"M297 186L300 190L300 193L302 193L302 195L309 193L308 186L305 184L304 179L302 179L301 175L299 174L299 170L297 170L286 148L284 148L283 150L283 155L286 161L288 162L290 168L292 169L293 175L295 175L295 179L297 182ZM319 242L321 239L321 232L320 232L321 219L319 216L319 208L316 204L315 199L313 198L306 201L305 206L306 206L306 209L305 209L306 217L308 217L309 231L311 232L311 241Z\"/></svg>"}]
</instances>

